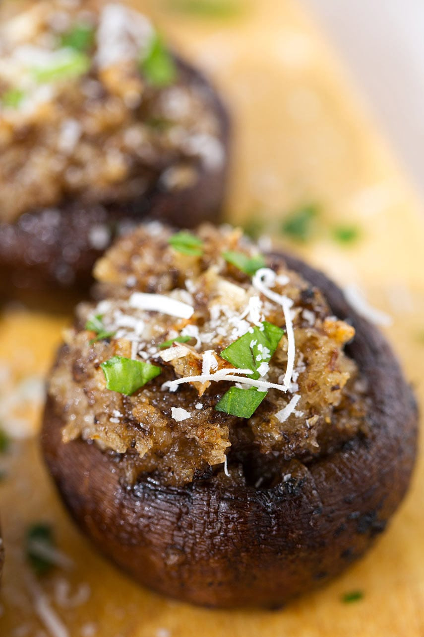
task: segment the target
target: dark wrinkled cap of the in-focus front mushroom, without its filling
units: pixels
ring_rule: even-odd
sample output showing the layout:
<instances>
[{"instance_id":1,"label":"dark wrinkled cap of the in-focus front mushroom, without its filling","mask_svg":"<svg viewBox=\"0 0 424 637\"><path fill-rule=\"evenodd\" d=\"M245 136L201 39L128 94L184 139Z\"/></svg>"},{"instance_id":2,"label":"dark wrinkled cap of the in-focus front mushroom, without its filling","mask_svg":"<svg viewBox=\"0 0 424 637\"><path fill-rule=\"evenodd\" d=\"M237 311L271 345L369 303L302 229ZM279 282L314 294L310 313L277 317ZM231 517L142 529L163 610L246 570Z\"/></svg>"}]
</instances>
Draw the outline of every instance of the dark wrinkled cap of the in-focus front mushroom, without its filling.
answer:
<instances>
[{"instance_id":1,"label":"dark wrinkled cap of the in-focus front mushroom, without its filling","mask_svg":"<svg viewBox=\"0 0 424 637\"><path fill-rule=\"evenodd\" d=\"M51 399L44 414L44 457L81 529L138 582L199 605L272 608L338 575L385 529L413 470L416 403L385 338L325 275L272 256L352 321L348 354L373 401L367 438L308 464L292 461L268 489L211 479L163 487L152 477L128 487L116 456L80 439L62 443Z\"/></svg>"}]
</instances>

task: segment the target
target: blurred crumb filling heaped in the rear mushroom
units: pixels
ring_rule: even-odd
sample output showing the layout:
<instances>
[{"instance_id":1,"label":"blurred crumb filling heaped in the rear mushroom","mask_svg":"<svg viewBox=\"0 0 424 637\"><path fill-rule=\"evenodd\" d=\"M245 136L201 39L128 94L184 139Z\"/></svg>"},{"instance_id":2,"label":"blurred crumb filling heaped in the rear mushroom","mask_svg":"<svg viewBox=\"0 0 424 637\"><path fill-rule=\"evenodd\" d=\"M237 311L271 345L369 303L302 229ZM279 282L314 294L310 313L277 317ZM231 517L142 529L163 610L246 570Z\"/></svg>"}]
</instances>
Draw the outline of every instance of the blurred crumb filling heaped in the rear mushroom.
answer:
<instances>
[{"instance_id":1,"label":"blurred crumb filling heaped in the rear mushroom","mask_svg":"<svg viewBox=\"0 0 424 637\"><path fill-rule=\"evenodd\" d=\"M0 222L190 187L221 168L219 133L212 94L137 11L41 0L0 22Z\"/></svg>"}]
</instances>

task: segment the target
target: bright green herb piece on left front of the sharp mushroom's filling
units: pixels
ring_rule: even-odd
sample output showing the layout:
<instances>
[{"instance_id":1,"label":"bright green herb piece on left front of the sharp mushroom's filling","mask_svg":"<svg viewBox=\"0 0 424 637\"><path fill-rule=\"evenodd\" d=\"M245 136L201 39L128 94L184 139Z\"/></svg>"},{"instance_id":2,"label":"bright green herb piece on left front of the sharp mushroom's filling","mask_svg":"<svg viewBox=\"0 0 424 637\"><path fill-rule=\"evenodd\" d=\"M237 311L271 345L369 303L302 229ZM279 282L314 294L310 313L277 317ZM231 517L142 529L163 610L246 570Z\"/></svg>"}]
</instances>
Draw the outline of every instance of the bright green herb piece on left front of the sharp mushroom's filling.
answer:
<instances>
[{"instance_id":1,"label":"bright green herb piece on left front of the sharp mushroom's filling","mask_svg":"<svg viewBox=\"0 0 424 637\"><path fill-rule=\"evenodd\" d=\"M161 373L161 368L149 362L114 356L102 363L106 377L106 387L113 392L131 396L137 389Z\"/></svg>"}]
</instances>

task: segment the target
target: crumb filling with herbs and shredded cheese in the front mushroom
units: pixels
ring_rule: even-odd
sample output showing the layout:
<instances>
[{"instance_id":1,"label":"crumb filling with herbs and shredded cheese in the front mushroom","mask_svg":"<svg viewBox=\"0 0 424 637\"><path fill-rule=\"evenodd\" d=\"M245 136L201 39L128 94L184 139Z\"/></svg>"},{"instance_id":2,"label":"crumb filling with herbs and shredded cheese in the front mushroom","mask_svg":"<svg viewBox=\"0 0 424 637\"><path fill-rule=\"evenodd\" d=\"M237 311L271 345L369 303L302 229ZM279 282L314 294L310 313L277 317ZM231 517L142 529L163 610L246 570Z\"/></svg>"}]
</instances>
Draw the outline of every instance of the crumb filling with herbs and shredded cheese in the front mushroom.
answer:
<instances>
[{"instance_id":1,"label":"crumb filling with herbs and shredded cheese in the front mushroom","mask_svg":"<svg viewBox=\"0 0 424 637\"><path fill-rule=\"evenodd\" d=\"M101 300L79 306L50 379L64 441L123 454L131 479L179 484L227 460L249 480L258 458L308 461L366 431L366 383L343 351L353 327L281 261L261 257L254 275L229 262L261 256L242 231L203 225L196 238L185 254L187 238L144 225L97 263ZM123 359L139 389L127 376L120 387Z\"/></svg>"}]
</instances>

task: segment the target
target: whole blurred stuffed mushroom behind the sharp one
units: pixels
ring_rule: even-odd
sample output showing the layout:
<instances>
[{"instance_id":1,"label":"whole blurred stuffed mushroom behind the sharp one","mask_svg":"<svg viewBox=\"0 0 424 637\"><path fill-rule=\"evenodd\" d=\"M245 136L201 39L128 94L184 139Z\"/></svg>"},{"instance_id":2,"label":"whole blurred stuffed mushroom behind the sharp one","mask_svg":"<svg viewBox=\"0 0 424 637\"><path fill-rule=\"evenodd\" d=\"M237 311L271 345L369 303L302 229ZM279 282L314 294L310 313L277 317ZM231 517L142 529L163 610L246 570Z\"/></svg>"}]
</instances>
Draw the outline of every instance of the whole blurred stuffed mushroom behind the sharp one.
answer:
<instances>
[{"instance_id":1,"label":"whole blurred stuffed mushroom behind the sharp one","mask_svg":"<svg viewBox=\"0 0 424 637\"><path fill-rule=\"evenodd\" d=\"M209 82L123 4L39 1L3 20L4 287L86 287L142 217L214 220L228 134Z\"/></svg>"}]
</instances>

